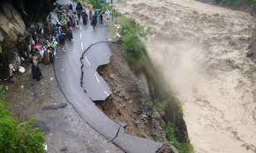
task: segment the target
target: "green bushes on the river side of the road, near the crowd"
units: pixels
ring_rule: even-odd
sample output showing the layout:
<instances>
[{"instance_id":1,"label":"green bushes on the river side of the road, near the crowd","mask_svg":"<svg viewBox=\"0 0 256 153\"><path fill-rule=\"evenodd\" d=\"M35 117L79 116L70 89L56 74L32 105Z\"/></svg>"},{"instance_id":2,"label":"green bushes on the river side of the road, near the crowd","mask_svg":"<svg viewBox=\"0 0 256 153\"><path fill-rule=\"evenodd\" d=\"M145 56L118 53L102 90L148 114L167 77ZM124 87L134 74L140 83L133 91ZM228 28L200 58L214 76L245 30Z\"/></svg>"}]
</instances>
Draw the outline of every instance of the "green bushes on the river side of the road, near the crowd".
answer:
<instances>
[{"instance_id":1,"label":"green bushes on the river side of the road, near the crowd","mask_svg":"<svg viewBox=\"0 0 256 153\"><path fill-rule=\"evenodd\" d=\"M139 24L132 19L125 18L124 15L118 11L112 12L114 12L116 16L114 22L121 26L121 31L118 31L118 33L122 36L121 40L122 46L124 47L124 55L127 57L131 69L134 71L152 69L151 71L153 71L144 44L144 40L146 39L147 34L150 33L150 30L139 26ZM117 29L115 28L114 24L109 28L109 32L112 35L117 33Z\"/></svg>"}]
</instances>

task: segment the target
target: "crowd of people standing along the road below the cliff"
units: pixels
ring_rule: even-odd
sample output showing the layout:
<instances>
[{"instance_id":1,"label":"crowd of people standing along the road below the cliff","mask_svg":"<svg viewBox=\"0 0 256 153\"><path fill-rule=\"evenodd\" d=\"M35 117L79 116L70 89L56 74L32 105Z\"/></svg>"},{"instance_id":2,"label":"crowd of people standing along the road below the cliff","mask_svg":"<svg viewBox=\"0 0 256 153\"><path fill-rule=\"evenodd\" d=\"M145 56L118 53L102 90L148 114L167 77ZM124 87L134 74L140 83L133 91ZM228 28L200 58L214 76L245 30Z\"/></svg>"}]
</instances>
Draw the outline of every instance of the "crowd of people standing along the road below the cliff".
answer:
<instances>
[{"instance_id":1,"label":"crowd of people standing along the road below the cliff","mask_svg":"<svg viewBox=\"0 0 256 153\"><path fill-rule=\"evenodd\" d=\"M38 33L34 33L32 37L32 45L29 45L29 53L32 59L32 76L34 79L40 81L42 78L39 62L44 64L53 63L55 60L57 46L62 47L64 51L65 40L72 40L72 30L79 26L80 18L83 24L87 26L88 23L94 29L100 25L107 26L110 18L110 12L95 10L92 11L78 3L76 8L73 4L62 5L56 3L57 19L52 18L51 14L46 18L45 24L39 24ZM105 21L103 18L105 16ZM44 30L46 29L46 30ZM38 35L48 32L46 37L38 39ZM58 45L59 44L59 45ZM10 69L12 67L10 66ZM12 75L12 71L11 71Z\"/></svg>"}]
</instances>

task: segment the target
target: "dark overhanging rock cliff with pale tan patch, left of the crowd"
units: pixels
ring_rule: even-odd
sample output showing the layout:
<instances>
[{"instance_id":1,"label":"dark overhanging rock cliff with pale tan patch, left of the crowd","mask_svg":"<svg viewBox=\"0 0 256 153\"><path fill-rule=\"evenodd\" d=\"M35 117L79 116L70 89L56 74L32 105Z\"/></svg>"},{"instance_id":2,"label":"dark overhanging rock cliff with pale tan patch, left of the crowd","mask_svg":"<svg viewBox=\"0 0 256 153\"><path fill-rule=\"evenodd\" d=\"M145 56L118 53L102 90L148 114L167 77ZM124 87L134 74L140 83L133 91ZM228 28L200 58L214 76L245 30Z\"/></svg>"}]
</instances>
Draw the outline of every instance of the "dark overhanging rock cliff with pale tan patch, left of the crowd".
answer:
<instances>
[{"instance_id":1,"label":"dark overhanging rock cliff with pale tan patch, left of the crowd","mask_svg":"<svg viewBox=\"0 0 256 153\"><path fill-rule=\"evenodd\" d=\"M26 49L18 49L29 36L26 28L47 17L56 0L1 0L0 2L0 78L13 57L24 55ZM23 38L23 39L19 39ZM27 39L26 39L27 40ZM18 52L19 50L19 52ZM24 52L24 53L23 53Z\"/></svg>"}]
</instances>

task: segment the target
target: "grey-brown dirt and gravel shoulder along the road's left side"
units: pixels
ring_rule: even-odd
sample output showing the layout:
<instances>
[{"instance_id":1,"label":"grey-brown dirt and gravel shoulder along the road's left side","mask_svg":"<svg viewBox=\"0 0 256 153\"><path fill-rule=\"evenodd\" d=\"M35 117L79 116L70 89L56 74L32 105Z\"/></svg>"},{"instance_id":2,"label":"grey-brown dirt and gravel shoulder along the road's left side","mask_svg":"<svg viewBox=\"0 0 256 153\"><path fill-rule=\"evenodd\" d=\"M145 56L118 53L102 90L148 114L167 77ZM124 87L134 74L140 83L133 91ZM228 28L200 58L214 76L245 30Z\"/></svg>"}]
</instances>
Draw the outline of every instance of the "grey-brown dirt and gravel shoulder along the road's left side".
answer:
<instances>
[{"instance_id":1,"label":"grey-brown dirt and gravel shoulder along the road's left side","mask_svg":"<svg viewBox=\"0 0 256 153\"><path fill-rule=\"evenodd\" d=\"M59 90L52 65L41 65L43 79L33 80L28 70L5 84L5 101L20 120L35 119L46 134L49 153L122 153L113 143L79 117Z\"/></svg>"}]
</instances>

